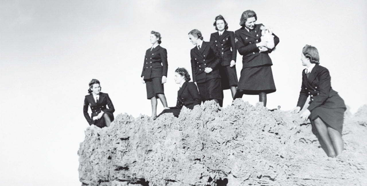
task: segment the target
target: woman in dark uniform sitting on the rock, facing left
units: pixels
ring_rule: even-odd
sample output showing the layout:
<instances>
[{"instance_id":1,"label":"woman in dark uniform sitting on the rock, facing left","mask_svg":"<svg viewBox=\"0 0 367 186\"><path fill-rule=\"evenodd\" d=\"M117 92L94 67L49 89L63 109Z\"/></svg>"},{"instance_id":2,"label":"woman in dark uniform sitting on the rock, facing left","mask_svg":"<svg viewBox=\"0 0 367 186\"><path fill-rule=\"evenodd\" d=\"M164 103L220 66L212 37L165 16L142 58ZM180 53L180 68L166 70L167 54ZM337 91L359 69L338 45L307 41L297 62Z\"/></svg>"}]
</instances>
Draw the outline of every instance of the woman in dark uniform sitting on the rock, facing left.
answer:
<instances>
[{"instance_id":1,"label":"woman in dark uniform sitting on the rock, facing left","mask_svg":"<svg viewBox=\"0 0 367 186\"><path fill-rule=\"evenodd\" d=\"M193 109L195 105L201 104L200 94L197 91L197 86L190 81L190 74L185 68L177 68L175 70L175 82L180 85L180 89L177 92L177 104L176 107L170 107L170 109L164 109L161 114L173 113L178 117L181 112L182 106L189 109Z\"/></svg>"}]
</instances>

